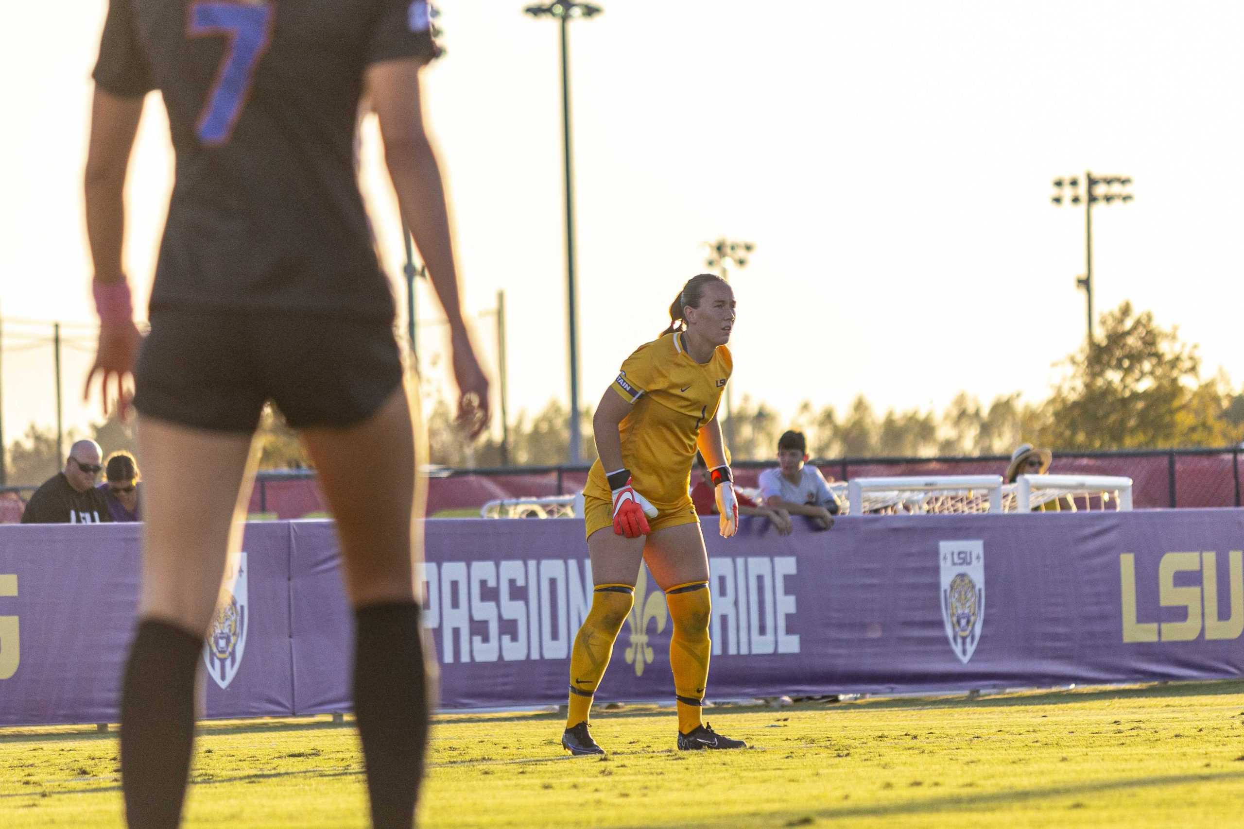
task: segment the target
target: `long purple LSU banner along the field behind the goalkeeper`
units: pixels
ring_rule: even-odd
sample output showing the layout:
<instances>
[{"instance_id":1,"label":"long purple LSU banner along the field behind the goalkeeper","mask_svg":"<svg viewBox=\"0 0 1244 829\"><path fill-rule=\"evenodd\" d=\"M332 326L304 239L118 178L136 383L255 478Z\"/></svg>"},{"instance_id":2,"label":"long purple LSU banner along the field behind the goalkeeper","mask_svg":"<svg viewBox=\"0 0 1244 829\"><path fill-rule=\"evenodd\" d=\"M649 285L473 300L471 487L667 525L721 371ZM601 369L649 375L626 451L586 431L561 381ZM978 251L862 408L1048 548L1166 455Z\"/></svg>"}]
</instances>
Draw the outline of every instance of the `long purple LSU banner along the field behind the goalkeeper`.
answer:
<instances>
[{"instance_id":1,"label":"long purple LSU banner along the field behind the goalkeeper","mask_svg":"<svg viewBox=\"0 0 1244 829\"><path fill-rule=\"evenodd\" d=\"M440 706L565 701L591 603L578 521L428 521ZM1244 675L1244 511L887 516L778 537L705 523L709 698ZM350 708L333 526L255 523L204 649L211 717ZM116 720L138 527L0 527L0 723ZM600 701L669 701L644 570Z\"/></svg>"}]
</instances>

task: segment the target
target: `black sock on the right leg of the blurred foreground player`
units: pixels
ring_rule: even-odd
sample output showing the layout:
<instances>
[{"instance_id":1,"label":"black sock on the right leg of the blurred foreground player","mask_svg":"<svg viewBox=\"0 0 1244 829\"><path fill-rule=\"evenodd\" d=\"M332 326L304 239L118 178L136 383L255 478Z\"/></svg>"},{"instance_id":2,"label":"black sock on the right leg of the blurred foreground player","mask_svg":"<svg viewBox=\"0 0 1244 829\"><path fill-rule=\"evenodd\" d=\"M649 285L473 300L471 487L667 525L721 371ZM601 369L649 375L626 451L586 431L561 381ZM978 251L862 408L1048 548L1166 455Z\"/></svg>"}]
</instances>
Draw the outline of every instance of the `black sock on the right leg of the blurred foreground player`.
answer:
<instances>
[{"instance_id":1,"label":"black sock on the right leg of the blurred foreground player","mask_svg":"<svg viewBox=\"0 0 1244 829\"><path fill-rule=\"evenodd\" d=\"M363 741L376 829L414 824L428 741L428 689L419 605L355 611L355 716Z\"/></svg>"}]
</instances>

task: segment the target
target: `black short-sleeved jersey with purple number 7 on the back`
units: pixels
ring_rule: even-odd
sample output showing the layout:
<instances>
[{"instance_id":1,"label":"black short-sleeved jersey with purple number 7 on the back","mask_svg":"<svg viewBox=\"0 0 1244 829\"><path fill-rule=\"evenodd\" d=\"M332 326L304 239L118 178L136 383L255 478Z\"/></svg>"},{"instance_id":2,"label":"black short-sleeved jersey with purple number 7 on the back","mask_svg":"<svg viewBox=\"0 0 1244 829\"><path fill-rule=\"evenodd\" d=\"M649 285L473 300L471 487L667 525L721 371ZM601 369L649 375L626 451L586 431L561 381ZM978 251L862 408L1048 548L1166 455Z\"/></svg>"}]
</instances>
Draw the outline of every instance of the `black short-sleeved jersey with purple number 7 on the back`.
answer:
<instances>
[{"instance_id":1,"label":"black short-sleeved jersey with purple number 7 on the back","mask_svg":"<svg viewBox=\"0 0 1244 829\"><path fill-rule=\"evenodd\" d=\"M393 317L358 191L371 63L435 53L424 0L111 0L95 80L159 89L177 181L152 308Z\"/></svg>"}]
</instances>

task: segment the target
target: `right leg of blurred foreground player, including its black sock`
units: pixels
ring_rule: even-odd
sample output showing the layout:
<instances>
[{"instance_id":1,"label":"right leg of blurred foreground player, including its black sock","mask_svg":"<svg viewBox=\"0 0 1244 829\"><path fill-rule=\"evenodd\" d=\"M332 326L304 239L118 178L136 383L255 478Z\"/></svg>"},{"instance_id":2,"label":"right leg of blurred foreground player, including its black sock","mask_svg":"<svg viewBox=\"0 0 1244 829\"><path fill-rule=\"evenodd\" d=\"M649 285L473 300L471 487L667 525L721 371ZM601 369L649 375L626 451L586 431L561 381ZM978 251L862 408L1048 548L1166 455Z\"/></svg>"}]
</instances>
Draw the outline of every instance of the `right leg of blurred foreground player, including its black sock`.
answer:
<instances>
[{"instance_id":1,"label":"right leg of blurred foreground player, including its black sock","mask_svg":"<svg viewBox=\"0 0 1244 829\"><path fill-rule=\"evenodd\" d=\"M419 434L404 389L358 424L302 433L337 520L355 607L355 715L379 829L413 824L428 737L414 584L422 539L412 526L423 506L415 501Z\"/></svg>"}]
</instances>

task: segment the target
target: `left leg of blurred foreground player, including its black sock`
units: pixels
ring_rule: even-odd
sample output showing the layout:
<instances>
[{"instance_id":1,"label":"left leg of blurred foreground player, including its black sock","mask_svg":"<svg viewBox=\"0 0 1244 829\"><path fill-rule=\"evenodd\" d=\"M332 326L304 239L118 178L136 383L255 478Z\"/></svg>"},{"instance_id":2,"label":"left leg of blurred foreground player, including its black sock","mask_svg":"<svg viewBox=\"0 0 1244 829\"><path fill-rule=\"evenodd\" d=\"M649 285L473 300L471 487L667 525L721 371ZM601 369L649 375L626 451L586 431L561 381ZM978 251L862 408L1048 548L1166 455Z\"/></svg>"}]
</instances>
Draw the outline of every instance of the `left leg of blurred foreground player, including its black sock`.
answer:
<instances>
[{"instance_id":1,"label":"left leg of blurred foreground player, including its black sock","mask_svg":"<svg viewBox=\"0 0 1244 829\"><path fill-rule=\"evenodd\" d=\"M138 419L143 459L139 625L121 701L121 777L131 827L180 820L194 749L194 679L228 556L241 543L250 435Z\"/></svg>"}]
</instances>

